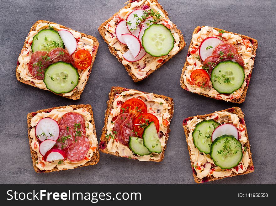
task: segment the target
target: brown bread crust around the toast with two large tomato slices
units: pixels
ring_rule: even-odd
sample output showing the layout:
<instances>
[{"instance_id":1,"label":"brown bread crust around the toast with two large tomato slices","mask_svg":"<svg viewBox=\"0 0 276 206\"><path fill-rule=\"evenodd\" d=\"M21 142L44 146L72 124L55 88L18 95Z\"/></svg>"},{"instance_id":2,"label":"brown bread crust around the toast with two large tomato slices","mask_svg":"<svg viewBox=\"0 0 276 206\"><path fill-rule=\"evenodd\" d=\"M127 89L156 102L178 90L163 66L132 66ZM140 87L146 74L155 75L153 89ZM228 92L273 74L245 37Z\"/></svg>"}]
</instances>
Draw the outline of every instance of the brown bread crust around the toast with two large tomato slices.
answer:
<instances>
[{"instance_id":1,"label":"brown bread crust around the toast with two large tomato slices","mask_svg":"<svg viewBox=\"0 0 276 206\"><path fill-rule=\"evenodd\" d=\"M111 155L115 155L115 156L119 156L119 152L115 152L115 153L112 153L112 152L109 152L107 147L106 148L102 148L102 144L105 144L107 145L108 143L108 140L105 138L105 134L107 133L107 122L108 122L108 117L109 117L109 114L111 112L111 109L113 109L113 102L114 102L114 98L115 98L115 95L116 94L120 94L126 90L134 90L134 91L138 91L138 90L135 90L135 89L127 89L127 88L124 88L124 87L111 87L111 90L109 92L109 100L106 102L107 103L107 109L105 111L105 118L104 118L104 127L102 129L102 136L101 136L101 139L100 139L100 142L99 142L99 149L100 151L106 153L106 154L111 154ZM138 91L140 92L140 91ZM148 94L149 92L143 92L145 94ZM154 97L156 98L162 98L171 108L168 110L169 114L170 114L170 118L169 118L169 122L171 122L171 119L173 118L173 99L170 98L170 97L166 97L166 96L163 96L163 95L158 95L158 94L153 94ZM164 154L165 154L165 150L166 150L166 147L167 147L167 140L169 138L169 132L170 132L170 125L168 125L168 129L167 129L167 132L166 134L164 134L166 136L166 141L165 141L165 146L163 147L163 150L162 150L162 155L161 155L161 158L160 160L153 160L153 159L150 159L150 161L155 161L155 162L160 162L164 159ZM122 156L119 156L119 157L122 157ZM135 159L135 158L131 158L131 159Z\"/></svg>"}]
</instances>

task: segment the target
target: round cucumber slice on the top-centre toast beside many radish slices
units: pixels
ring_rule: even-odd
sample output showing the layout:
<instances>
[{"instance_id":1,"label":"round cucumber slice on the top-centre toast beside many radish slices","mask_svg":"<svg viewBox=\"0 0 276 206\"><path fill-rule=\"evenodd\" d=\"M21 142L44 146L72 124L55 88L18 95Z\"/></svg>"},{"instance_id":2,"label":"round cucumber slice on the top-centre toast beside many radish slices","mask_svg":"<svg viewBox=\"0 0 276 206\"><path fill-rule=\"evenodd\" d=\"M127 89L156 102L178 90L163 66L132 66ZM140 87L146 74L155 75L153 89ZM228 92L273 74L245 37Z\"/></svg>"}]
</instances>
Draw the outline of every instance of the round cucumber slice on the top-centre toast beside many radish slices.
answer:
<instances>
[{"instance_id":1,"label":"round cucumber slice on the top-centre toast beside many radish slices","mask_svg":"<svg viewBox=\"0 0 276 206\"><path fill-rule=\"evenodd\" d=\"M151 56L168 55L174 46L173 34L162 24L151 24L142 36L142 46Z\"/></svg>"}]
</instances>

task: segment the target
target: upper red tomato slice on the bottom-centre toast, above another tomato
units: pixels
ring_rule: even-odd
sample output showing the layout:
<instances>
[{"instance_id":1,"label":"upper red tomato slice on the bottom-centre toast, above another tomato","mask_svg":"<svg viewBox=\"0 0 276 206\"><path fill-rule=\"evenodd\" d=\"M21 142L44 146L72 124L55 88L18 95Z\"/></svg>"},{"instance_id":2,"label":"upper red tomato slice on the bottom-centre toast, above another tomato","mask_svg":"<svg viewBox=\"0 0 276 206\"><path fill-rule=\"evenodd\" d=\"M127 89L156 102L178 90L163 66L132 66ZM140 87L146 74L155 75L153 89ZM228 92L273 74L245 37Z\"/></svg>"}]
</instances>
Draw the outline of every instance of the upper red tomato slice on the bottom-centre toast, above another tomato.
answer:
<instances>
[{"instance_id":1,"label":"upper red tomato slice on the bottom-centre toast, above another tomato","mask_svg":"<svg viewBox=\"0 0 276 206\"><path fill-rule=\"evenodd\" d=\"M141 99L137 98L126 100L121 106L121 114L129 113L132 119L147 112L146 104Z\"/></svg>"}]
</instances>

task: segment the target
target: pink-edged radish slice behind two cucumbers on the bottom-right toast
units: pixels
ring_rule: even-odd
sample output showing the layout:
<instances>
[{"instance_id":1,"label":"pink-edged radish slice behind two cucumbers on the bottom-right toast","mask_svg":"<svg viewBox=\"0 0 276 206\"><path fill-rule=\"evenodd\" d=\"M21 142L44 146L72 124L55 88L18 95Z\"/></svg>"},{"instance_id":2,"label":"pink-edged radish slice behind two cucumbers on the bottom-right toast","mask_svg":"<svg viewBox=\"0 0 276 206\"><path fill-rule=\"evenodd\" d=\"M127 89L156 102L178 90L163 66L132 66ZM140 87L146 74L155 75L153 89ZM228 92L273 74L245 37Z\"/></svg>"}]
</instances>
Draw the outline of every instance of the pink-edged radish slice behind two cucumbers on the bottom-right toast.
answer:
<instances>
[{"instance_id":1,"label":"pink-edged radish slice behind two cucumbers on the bottom-right toast","mask_svg":"<svg viewBox=\"0 0 276 206\"><path fill-rule=\"evenodd\" d=\"M233 135L237 140L239 140L239 131L233 124L221 124L212 133L212 142L222 135Z\"/></svg>"}]
</instances>

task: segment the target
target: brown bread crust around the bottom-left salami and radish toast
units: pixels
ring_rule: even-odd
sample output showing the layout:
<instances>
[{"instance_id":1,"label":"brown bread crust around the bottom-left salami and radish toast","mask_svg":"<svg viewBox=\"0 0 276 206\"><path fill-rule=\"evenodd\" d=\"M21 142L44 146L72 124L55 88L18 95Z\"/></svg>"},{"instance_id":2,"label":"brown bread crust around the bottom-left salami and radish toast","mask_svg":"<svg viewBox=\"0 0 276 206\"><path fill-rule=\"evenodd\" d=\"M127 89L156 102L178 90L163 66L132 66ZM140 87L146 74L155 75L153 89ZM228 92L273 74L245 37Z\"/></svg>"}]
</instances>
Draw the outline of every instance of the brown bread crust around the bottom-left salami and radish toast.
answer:
<instances>
[{"instance_id":1,"label":"brown bread crust around the bottom-left salami and radish toast","mask_svg":"<svg viewBox=\"0 0 276 206\"><path fill-rule=\"evenodd\" d=\"M96 127L95 127L95 122L94 122L94 118L93 118L93 111L92 111L92 107L91 105L89 104L78 104L78 105L69 105L70 107L73 108L73 110L75 109L80 109L80 108L87 108L88 109L88 112L91 114L91 120L90 120L90 123L93 125L93 133L95 136L96 135ZM33 161L33 166L34 166L34 171L35 172L54 172L54 171L61 171L61 170L58 170L57 167L55 166L53 169L51 170L40 170L36 165L36 161L37 161L37 153L36 151L33 150L33 148L31 147L31 143L32 143L32 138L30 137L30 131L31 129L33 128L31 126L31 119L38 113L42 113L42 112L50 112L52 111L53 109L60 109L60 108L65 108L66 106L61 106L61 107L53 107L53 108L49 108L49 109L41 109L41 110L38 110L36 112L31 112L27 115L27 124L28 124L28 138L29 138L29 145L30 145L30 151L31 151L31 157L32 157L32 161ZM91 160L86 162L84 165L81 165L81 166L77 166L77 167L83 167L83 166L88 166L88 165L95 165L98 163L100 159L100 154L99 154L99 150L98 150L98 147L96 148L96 151L93 152L93 156L91 157ZM74 168L71 168L71 169L75 169L77 167L74 167ZM70 169L63 169L63 170L70 170ZM62 170L62 171L63 171Z\"/></svg>"}]
</instances>

